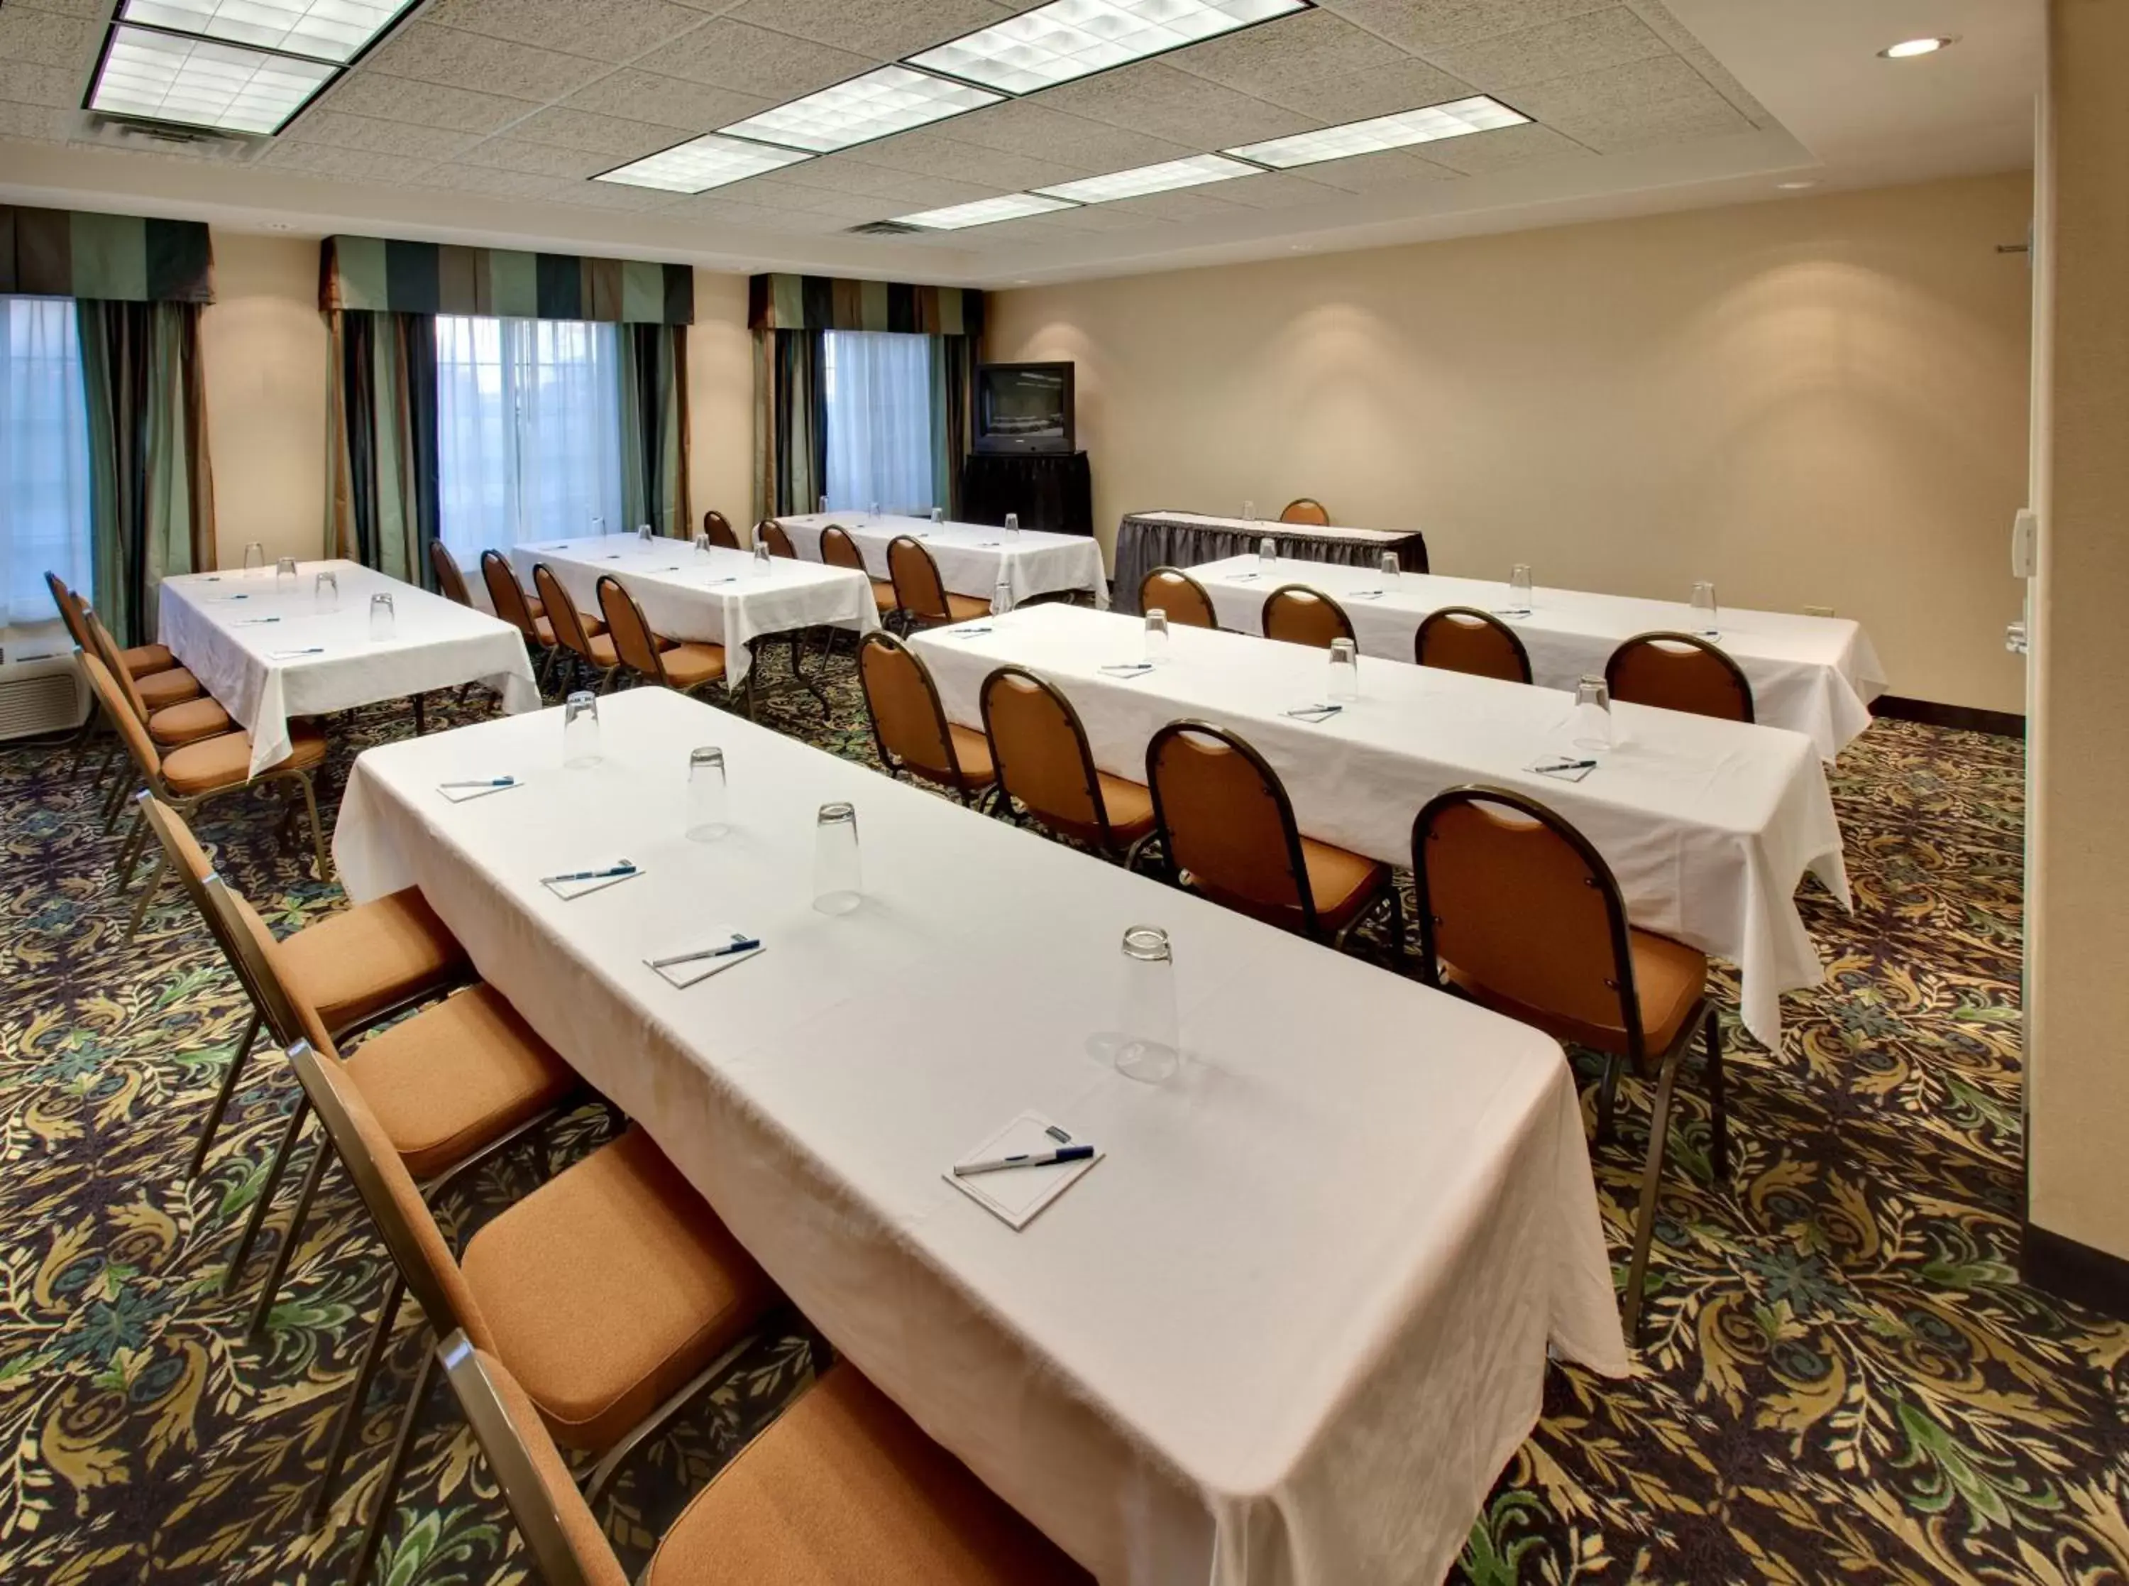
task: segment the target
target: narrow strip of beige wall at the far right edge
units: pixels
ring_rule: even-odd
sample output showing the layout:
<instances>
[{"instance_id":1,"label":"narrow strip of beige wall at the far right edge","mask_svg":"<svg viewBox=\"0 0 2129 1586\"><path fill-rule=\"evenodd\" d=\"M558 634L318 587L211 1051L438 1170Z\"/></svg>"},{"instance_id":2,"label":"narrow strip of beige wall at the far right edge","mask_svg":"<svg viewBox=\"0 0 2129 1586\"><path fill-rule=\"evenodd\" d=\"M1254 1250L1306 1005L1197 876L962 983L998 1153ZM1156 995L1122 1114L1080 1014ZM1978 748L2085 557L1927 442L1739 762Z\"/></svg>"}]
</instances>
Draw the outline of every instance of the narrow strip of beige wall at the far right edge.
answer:
<instances>
[{"instance_id":1,"label":"narrow strip of beige wall at the far right edge","mask_svg":"<svg viewBox=\"0 0 2129 1586\"><path fill-rule=\"evenodd\" d=\"M2052 0L2048 32L2027 1216L2129 1260L2129 6Z\"/></svg>"}]
</instances>

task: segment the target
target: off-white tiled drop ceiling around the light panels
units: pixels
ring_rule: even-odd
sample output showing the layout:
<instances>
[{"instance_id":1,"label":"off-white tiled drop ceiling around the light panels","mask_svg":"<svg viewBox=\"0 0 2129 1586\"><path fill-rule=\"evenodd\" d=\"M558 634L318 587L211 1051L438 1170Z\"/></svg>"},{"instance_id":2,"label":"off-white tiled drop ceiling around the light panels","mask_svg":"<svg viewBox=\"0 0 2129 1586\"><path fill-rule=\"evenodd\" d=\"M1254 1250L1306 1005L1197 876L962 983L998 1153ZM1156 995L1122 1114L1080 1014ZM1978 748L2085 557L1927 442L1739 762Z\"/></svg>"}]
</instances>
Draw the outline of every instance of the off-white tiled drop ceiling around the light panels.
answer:
<instances>
[{"instance_id":1,"label":"off-white tiled drop ceiling around the light panels","mask_svg":"<svg viewBox=\"0 0 2129 1586\"><path fill-rule=\"evenodd\" d=\"M0 4L0 198L1011 285L2031 160L2040 0L1318 0L703 194L594 177L1033 9L428 0L270 141L81 104L113 0ZM1886 62L1920 34L1948 51ZM852 228L1488 94L1529 126L913 236Z\"/></svg>"}]
</instances>

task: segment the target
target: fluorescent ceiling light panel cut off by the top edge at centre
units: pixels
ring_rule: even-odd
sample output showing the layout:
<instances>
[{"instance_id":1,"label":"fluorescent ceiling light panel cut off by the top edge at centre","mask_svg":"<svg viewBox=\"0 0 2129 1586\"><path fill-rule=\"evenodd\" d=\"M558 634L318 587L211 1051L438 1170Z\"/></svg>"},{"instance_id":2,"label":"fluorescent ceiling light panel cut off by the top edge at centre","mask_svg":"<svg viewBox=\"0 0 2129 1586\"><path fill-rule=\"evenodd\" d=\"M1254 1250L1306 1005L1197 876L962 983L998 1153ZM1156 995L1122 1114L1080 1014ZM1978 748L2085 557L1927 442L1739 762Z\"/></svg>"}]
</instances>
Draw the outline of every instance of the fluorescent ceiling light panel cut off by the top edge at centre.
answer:
<instances>
[{"instance_id":1,"label":"fluorescent ceiling light panel cut off by the top edge at centre","mask_svg":"<svg viewBox=\"0 0 2129 1586\"><path fill-rule=\"evenodd\" d=\"M1005 94L1033 94L1290 11L1307 11L1307 4L1309 0L1050 0L1047 6L926 49L909 62Z\"/></svg>"}]
</instances>

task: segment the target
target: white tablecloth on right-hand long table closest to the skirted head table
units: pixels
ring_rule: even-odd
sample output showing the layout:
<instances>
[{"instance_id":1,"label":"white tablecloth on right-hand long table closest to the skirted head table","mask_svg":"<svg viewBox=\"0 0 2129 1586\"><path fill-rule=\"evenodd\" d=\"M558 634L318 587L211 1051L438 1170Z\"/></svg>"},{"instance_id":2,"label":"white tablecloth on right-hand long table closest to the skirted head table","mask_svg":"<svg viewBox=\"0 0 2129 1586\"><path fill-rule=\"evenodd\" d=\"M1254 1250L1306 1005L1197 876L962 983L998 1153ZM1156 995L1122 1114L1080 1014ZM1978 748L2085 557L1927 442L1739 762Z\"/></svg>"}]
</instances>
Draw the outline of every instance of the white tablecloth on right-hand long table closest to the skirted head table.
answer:
<instances>
[{"instance_id":1,"label":"white tablecloth on right-hand long table closest to the skirted head table","mask_svg":"<svg viewBox=\"0 0 2129 1586\"><path fill-rule=\"evenodd\" d=\"M1239 575L1239 577L1237 577ZM1256 575L1256 558L1231 558L1190 568L1211 594L1222 628L1262 632L1265 596L1282 583L1322 590L1352 619L1363 656L1412 660L1420 619L1441 607L1499 611L1507 583L1405 573L1394 583L1375 568L1324 566L1280 560ZM1354 590L1382 590L1380 600L1352 600ZM1622 639L1637 632L1697 632L1684 600L1637 600L1622 594L1537 590L1529 617L1501 617L1531 651L1531 681L1573 688L1580 677L1603 677L1603 664ZM1716 643L1752 683L1754 715L1767 726L1803 732L1827 760L1869 726L1869 703L1884 692L1884 666L1848 617L1801 617L1788 611L1735 611L1718 615Z\"/></svg>"}]
</instances>

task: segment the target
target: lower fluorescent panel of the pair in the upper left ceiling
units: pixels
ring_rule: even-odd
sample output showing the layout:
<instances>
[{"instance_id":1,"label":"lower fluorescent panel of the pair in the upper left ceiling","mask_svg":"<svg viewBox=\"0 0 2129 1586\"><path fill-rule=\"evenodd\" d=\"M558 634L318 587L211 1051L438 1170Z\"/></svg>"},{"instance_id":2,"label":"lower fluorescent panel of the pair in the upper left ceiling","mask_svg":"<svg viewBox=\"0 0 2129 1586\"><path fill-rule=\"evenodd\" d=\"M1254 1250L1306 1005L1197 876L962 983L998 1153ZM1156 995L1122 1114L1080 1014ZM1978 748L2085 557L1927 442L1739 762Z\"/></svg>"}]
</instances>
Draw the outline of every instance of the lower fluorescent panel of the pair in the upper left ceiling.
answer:
<instances>
[{"instance_id":1,"label":"lower fluorescent panel of the pair in the upper left ceiling","mask_svg":"<svg viewBox=\"0 0 2129 1586\"><path fill-rule=\"evenodd\" d=\"M119 26L111 30L89 109L224 132L275 132L334 75L326 62Z\"/></svg>"}]
</instances>

